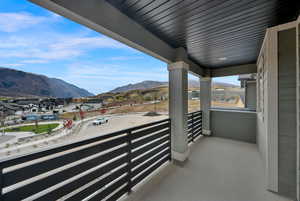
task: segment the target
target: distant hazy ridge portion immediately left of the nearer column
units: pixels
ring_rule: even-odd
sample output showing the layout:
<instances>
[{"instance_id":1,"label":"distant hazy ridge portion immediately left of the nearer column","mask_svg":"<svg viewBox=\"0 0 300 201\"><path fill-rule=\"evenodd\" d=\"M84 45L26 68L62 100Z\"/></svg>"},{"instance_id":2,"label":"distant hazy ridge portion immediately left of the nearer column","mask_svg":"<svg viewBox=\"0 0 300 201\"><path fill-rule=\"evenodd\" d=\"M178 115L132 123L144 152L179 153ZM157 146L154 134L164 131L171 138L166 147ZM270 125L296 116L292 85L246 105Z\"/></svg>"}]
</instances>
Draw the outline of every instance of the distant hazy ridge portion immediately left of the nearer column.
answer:
<instances>
[{"instance_id":1,"label":"distant hazy ridge portion immediately left of the nearer column","mask_svg":"<svg viewBox=\"0 0 300 201\"><path fill-rule=\"evenodd\" d=\"M168 82L158 82L158 81L143 81L135 84L128 84L125 86L117 87L114 90L111 90L110 93L120 93L137 89L150 89L163 85L168 85Z\"/></svg>"}]
</instances>

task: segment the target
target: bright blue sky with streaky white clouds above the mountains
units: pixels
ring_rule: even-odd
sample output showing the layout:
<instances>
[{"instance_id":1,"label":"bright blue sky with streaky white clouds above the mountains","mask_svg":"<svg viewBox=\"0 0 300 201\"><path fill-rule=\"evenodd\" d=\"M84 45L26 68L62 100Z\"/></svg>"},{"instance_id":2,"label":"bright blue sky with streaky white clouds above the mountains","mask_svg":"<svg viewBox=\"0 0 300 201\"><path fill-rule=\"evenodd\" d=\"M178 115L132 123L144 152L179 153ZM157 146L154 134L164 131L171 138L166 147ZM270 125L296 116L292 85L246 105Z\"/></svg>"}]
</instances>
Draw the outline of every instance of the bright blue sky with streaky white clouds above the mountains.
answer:
<instances>
[{"instance_id":1,"label":"bright blue sky with streaky white clouds above the mountains","mask_svg":"<svg viewBox=\"0 0 300 201\"><path fill-rule=\"evenodd\" d=\"M27 0L1 0L0 66L61 78L93 93L168 80L164 62Z\"/></svg>"}]
</instances>

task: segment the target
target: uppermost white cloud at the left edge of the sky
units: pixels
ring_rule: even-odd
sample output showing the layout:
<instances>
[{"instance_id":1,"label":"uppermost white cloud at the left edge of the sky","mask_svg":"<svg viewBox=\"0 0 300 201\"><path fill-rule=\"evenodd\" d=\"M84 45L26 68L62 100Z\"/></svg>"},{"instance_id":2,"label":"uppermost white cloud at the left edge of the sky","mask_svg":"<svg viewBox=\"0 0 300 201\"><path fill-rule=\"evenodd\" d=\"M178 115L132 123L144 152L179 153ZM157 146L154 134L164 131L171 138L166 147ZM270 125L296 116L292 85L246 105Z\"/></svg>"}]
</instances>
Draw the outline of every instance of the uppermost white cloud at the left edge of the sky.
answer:
<instances>
[{"instance_id":1,"label":"uppermost white cloud at the left edge of the sky","mask_svg":"<svg viewBox=\"0 0 300 201\"><path fill-rule=\"evenodd\" d=\"M0 31L16 32L46 21L43 16L30 13L0 13Z\"/></svg>"}]
</instances>

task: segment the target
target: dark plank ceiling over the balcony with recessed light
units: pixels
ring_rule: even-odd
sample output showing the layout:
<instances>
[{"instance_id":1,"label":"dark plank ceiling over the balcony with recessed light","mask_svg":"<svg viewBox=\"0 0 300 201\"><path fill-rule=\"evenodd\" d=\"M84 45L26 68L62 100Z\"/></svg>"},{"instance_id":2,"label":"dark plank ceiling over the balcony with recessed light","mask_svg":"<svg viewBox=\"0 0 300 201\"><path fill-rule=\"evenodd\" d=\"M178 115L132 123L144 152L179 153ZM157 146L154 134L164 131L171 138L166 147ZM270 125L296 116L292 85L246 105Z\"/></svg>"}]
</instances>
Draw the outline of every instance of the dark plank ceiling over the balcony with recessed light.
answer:
<instances>
[{"instance_id":1,"label":"dark plank ceiling over the balcony with recessed light","mask_svg":"<svg viewBox=\"0 0 300 201\"><path fill-rule=\"evenodd\" d=\"M106 0L203 67L256 61L265 30L295 20L291 0ZM300 2L300 1L299 1Z\"/></svg>"}]
</instances>

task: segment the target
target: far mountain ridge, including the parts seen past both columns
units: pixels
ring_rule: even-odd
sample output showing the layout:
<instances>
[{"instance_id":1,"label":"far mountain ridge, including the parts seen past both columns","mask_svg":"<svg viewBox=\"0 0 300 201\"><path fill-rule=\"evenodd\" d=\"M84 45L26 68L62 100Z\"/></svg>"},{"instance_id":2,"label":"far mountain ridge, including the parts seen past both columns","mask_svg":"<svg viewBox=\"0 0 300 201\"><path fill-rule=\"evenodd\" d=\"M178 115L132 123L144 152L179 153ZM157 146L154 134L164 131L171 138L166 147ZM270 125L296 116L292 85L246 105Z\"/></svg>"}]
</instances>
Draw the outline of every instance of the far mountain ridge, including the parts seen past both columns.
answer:
<instances>
[{"instance_id":1,"label":"far mountain ridge, including the parts seen past both columns","mask_svg":"<svg viewBox=\"0 0 300 201\"><path fill-rule=\"evenodd\" d=\"M143 81L143 82L138 82L135 84L128 84L125 86L117 87L113 90L111 90L109 93L120 93L120 92L127 92L131 90L143 90L143 89L151 89L151 88L156 88L160 86L167 86L168 82L159 82L159 81ZM189 88L199 88L200 83L197 80L189 80L188 82ZM236 85L233 84L228 84L228 83L223 83L223 82L214 82L213 83L214 87L237 87Z\"/></svg>"}]
</instances>

